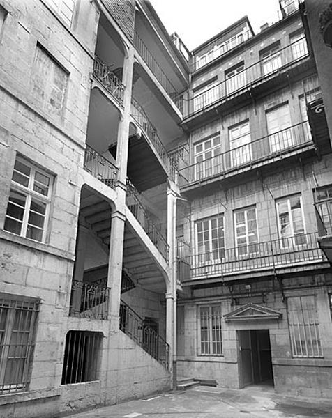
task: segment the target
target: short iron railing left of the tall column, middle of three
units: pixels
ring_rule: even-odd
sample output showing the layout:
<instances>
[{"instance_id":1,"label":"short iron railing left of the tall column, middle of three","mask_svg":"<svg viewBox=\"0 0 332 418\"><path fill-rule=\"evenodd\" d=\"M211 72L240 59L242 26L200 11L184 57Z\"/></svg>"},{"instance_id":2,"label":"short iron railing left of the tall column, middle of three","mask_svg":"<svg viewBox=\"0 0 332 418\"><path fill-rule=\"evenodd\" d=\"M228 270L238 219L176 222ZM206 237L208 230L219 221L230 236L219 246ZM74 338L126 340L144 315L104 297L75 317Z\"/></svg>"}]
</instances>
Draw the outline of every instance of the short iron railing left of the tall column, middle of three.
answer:
<instances>
[{"instance_id":1,"label":"short iron railing left of the tall column, middle of three","mask_svg":"<svg viewBox=\"0 0 332 418\"><path fill-rule=\"evenodd\" d=\"M108 187L115 187L118 168L89 145L85 149L83 167L85 171L98 178Z\"/></svg>"}]
</instances>

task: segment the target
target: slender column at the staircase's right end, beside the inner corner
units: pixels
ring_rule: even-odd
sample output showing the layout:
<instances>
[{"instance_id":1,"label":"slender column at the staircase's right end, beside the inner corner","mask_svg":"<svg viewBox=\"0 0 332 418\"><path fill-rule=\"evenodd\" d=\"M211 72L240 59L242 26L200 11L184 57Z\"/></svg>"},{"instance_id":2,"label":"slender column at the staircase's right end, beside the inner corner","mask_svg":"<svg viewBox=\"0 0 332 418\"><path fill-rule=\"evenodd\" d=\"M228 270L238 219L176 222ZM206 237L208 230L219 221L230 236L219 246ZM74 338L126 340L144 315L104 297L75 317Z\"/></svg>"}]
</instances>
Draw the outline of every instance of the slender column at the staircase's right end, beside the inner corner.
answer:
<instances>
[{"instance_id":1,"label":"slender column at the staircase's right end, beside the inner corner","mask_svg":"<svg viewBox=\"0 0 332 418\"><path fill-rule=\"evenodd\" d=\"M166 339L169 343L169 364L176 385L176 193L167 190L167 243L169 245L169 284L166 293Z\"/></svg>"}]
</instances>

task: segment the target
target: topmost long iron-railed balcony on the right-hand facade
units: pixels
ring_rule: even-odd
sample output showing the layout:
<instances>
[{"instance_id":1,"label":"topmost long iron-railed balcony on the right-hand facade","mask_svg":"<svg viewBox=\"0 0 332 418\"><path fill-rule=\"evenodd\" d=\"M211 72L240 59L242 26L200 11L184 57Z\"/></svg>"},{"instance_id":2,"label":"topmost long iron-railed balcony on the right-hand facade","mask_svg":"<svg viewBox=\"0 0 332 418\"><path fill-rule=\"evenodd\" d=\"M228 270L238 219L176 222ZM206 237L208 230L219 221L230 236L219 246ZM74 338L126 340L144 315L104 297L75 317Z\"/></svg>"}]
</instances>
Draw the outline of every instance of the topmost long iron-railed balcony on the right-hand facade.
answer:
<instances>
[{"instance_id":1,"label":"topmost long iron-railed balcony on the right-hand facade","mask_svg":"<svg viewBox=\"0 0 332 418\"><path fill-rule=\"evenodd\" d=\"M250 88L251 94L253 88L258 88L264 83L264 91L266 91L265 83L269 81L271 86L275 85L280 75L285 75L285 81L287 81L286 72L302 61L308 58L308 48L306 45L305 37L292 42L287 47L281 48L273 52L273 54L267 56L264 59L260 59L256 63L250 65L243 70L238 71L222 80L218 84L213 84L210 88L207 88L202 93L196 94L189 100L188 103L188 116L184 119L183 123L187 123L188 120L196 118L199 114L207 111L207 109L214 109L217 105L221 105L229 100L239 98L239 95L245 93ZM301 70L298 70L301 73ZM227 77L227 75L226 75ZM280 80L279 80L280 82ZM258 91L258 93L260 93Z\"/></svg>"}]
</instances>

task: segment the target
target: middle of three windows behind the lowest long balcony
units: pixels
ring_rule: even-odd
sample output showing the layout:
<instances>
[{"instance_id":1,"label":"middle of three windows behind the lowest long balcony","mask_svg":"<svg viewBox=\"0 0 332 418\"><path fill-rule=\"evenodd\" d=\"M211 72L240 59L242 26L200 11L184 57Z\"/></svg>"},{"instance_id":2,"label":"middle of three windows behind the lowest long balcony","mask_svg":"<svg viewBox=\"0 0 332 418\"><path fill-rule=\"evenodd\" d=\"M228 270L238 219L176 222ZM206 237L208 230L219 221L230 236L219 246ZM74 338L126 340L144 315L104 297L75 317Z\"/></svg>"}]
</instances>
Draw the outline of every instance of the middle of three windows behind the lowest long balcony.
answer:
<instances>
[{"instance_id":1,"label":"middle of three windows behind the lowest long balcony","mask_svg":"<svg viewBox=\"0 0 332 418\"><path fill-rule=\"evenodd\" d=\"M236 254L246 256L258 251L256 208L246 208L234 212Z\"/></svg>"}]
</instances>

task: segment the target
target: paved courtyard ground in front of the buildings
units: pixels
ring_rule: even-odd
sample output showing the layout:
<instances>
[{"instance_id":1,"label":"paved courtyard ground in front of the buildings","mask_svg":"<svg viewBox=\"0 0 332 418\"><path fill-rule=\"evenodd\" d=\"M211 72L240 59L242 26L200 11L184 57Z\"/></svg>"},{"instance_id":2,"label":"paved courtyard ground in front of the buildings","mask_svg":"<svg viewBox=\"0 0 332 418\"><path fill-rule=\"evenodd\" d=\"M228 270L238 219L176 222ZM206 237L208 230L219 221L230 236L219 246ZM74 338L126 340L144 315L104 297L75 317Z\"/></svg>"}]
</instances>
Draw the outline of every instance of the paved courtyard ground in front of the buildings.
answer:
<instances>
[{"instance_id":1,"label":"paved courtyard ground in front of the buildings","mask_svg":"<svg viewBox=\"0 0 332 418\"><path fill-rule=\"evenodd\" d=\"M225 389L199 386L156 394L119 405L70 415L72 418L312 418L332 417L331 401L292 398L273 387Z\"/></svg>"}]
</instances>

